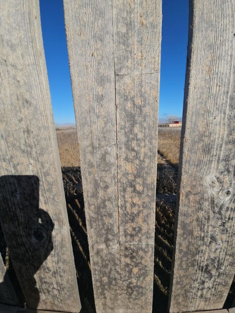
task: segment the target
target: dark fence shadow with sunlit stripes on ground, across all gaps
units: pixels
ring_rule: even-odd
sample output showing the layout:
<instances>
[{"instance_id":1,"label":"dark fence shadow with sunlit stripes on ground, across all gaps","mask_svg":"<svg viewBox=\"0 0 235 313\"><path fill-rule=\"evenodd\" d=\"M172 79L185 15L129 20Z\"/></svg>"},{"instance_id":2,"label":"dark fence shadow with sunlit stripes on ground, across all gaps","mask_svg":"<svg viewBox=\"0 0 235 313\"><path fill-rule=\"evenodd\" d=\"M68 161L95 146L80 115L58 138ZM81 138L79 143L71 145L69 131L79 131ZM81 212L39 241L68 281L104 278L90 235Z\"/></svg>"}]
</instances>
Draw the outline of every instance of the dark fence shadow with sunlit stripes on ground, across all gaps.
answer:
<instances>
[{"instance_id":1,"label":"dark fence shadow with sunlit stripes on ground, across all gaps","mask_svg":"<svg viewBox=\"0 0 235 313\"><path fill-rule=\"evenodd\" d=\"M62 176L82 305L81 313L95 313L80 167L63 167ZM177 169L173 169L169 164L158 164L156 193L159 197L156 198L153 313L167 312L175 221L175 200L169 201L171 197L168 196L176 194L176 185ZM160 197L161 195L165 197ZM1 229L0 252L17 296L21 304L27 306L24 303ZM234 290L235 283L233 282L225 308L231 307Z\"/></svg>"}]
</instances>

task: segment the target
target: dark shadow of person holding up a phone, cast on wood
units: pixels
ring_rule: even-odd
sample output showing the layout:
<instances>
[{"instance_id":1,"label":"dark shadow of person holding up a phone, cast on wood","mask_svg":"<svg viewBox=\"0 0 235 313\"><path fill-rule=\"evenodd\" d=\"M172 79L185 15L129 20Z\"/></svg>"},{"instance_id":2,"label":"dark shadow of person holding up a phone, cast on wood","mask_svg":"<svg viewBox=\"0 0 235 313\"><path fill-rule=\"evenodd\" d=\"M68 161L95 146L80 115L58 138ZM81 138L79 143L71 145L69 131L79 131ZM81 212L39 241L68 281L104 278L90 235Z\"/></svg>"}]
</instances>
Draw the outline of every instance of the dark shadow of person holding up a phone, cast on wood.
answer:
<instances>
[{"instance_id":1,"label":"dark shadow of person holding up a phone, cast on wood","mask_svg":"<svg viewBox=\"0 0 235 313\"><path fill-rule=\"evenodd\" d=\"M50 215L39 208L39 178L35 175L5 175L0 177L0 218L2 231L9 247L17 274L12 281L16 291L20 288L30 305L37 308L40 292L34 275L53 250L52 231L54 223ZM2 233L3 235L3 233ZM3 238L1 239L4 245ZM8 249L5 249L6 256ZM0 290L4 290L9 275L15 275L5 257L6 268ZM21 298L21 297L19 297ZM20 302L22 303L23 299Z\"/></svg>"}]
</instances>

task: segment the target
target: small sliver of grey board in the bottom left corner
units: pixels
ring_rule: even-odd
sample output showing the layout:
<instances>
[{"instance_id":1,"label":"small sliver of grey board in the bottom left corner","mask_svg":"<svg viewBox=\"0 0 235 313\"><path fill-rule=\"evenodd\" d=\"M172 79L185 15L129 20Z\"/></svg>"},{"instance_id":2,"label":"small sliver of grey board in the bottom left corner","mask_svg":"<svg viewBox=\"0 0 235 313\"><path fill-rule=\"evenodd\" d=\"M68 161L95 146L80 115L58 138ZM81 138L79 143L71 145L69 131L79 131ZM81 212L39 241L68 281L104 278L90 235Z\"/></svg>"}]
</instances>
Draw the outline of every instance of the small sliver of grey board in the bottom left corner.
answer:
<instances>
[{"instance_id":1,"label":"small sliver of grey board in the bottom left corner","mask_svg":"<svg viewBox=\"0 0 235 313\"><path fill-rule=\"evenodd\" d=\"M0 303L19 305L19 301L8 277L6 267L0 255Z\"/></svg>"}]
</instances>

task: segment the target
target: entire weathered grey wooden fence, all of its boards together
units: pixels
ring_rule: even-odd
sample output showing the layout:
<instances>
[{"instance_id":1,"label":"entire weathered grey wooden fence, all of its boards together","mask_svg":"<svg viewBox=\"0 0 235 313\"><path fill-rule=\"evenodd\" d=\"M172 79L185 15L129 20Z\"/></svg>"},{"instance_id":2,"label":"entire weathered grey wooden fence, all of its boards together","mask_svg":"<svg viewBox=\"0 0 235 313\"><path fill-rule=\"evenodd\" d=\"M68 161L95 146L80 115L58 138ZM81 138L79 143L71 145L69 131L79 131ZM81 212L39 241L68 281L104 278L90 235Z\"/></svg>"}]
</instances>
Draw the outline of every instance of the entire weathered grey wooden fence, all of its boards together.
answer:
<instances>
[{"instance_id":1,"label":"entire weathered grey wooden fence, all of its boards together","mask_svg":"<svg viewBox=\"0 0 235 313\"><path fill-rule=\"evenodd\" d=\"M29 308L79 312L39 1L0 7L3 232ZM161 0L64 11L96 310L149 313ZM221 309L235 274L234 14L235 0L190 1L171 313ZM0 280L1 313L36 312L2 259Z\"/></svg>"}]
</instances>

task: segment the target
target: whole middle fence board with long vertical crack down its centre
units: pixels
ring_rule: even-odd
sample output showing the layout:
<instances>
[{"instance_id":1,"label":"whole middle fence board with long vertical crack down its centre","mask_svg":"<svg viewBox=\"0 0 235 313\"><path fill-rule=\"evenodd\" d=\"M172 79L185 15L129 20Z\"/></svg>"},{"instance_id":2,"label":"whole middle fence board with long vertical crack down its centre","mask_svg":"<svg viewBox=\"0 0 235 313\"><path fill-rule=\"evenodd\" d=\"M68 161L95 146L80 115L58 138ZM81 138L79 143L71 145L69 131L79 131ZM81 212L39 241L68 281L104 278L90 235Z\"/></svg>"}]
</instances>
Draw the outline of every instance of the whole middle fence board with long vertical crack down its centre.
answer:
<instances>
[{"instance_id":1,"label":"whole middle fence board with long vertical crack down its centre","mask_svg":"<svg viewBox=\"0 0 235 313\"><path fill-rule=\"evenodd\" d=\"M96 310L151 312L161 1L64 9Z\"/></svg>"}]
</instances>

